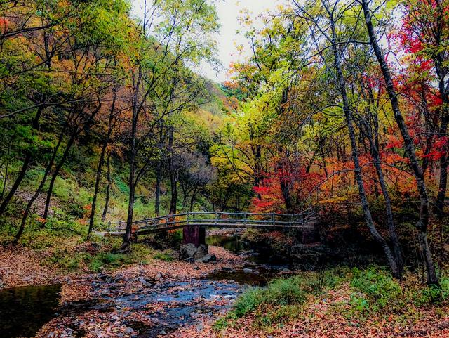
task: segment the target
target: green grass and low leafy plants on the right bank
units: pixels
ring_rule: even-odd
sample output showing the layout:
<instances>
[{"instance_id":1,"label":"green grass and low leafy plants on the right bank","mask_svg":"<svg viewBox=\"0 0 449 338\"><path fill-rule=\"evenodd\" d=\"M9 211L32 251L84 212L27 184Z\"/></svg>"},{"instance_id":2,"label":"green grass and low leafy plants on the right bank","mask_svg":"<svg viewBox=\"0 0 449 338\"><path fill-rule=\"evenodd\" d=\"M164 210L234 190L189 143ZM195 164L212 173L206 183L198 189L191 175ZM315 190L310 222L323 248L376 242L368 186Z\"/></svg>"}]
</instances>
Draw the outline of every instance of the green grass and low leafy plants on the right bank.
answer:
<instances>
[{"instance_id":1,"label":"green grass and low leafy plants on the right bank","mask_svg":"<svg viewBox=\"0 0 449 338\"><path fill-rule=\"evenodd\" d=\"M381 266L366 269L334 268L301 273L269 282L267 287L252 287L236 299L232 311L217 320L215 330L238 325L239 319L250 316L255 326L270 331L304 313L305 304L327 298L326 292L338 288L349 299L329 304L330 311L347 320L397 318L414 316L416 308L445 306L449 301L449 278L442 277L440 286L423 286L417 275L406 273L398 282Z\"/></svg>"}]
</instances>

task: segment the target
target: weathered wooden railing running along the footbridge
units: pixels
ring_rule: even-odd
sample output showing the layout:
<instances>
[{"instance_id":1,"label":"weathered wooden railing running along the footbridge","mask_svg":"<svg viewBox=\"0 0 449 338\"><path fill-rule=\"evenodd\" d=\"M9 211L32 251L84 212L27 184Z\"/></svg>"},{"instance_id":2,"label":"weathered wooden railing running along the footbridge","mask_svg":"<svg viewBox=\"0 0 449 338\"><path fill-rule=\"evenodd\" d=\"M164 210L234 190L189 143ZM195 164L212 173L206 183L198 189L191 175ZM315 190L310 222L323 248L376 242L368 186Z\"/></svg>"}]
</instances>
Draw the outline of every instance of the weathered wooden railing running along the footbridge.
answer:
<instances>
[{"instance_id":1,"label":"weathered wooden railing running along the footbridge","mask_svg":"<svg viewBox=\"0 0 449 338\"><path fill-rule=\"evenodd\" d=\"M139 230L163 229L181 227L183 225L201 225L201 226L248 226L248 227L280 227L280 228L299 228L306 223L316 219L316 212L313 207L304 210L300 214L276 214L276 213L250 213L250 212L184 212L181 214L170 214L165 216L156 216L148 219L133 221L133 225L138 226ZM243 218L236 219L236 216ZM213 218L199 218L201 216L213 216ZM225 216L225 218L223 218ZM234 217L234 218L232 218ZM257 217L257 219L254 219ZM264 219L259 219L260 217ZM287 219L287 220L286 220ZM163 222L161 222L163 221ZM122 231L126 229L126 221L108 222L108 232ZM118 225L112 228L113 225Z\"/></svg>"}]
</instances>

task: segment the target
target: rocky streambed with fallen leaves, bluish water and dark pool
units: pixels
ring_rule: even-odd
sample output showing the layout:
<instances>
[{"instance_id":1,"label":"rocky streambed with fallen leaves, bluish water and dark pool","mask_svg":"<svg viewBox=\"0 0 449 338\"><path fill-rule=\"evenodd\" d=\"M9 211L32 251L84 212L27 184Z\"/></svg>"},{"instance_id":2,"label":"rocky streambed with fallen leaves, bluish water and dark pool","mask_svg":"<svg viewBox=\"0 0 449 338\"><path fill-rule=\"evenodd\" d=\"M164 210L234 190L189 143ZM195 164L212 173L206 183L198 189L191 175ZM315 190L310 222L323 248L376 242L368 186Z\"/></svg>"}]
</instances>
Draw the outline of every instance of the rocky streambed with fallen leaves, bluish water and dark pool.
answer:
<instances>
[{"instance_id":1,"label":"rocky streambed with fallen leaves, bluish water and dark pool","mask_svg":"<svg viewBox=\"0 0 449 338\"><path fill-rule=\"evenodd\" d=\"M187 337L180 333L185 327L201 332L204 323L229 311L246 287L265 285L283 268L232 251L211 246L217 260L207 264L152 261L67 278L39 287L34 296L33 287L22 289L20 297L19 288L4 289L13 296L1 304L0 337Z\"/></svg>"}]
</instances>

